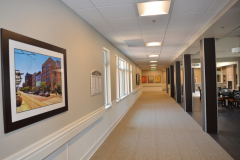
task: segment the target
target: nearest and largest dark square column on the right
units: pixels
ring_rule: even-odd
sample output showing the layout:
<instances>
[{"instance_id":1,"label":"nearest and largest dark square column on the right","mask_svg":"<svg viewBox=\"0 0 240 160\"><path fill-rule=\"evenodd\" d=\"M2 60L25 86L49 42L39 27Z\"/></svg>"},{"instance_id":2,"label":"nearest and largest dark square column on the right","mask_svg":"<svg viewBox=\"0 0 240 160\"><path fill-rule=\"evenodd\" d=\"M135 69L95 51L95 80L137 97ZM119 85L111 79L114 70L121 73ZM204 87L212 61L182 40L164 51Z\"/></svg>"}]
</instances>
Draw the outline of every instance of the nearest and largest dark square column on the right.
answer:
<instances>
[{"instance_id":1,"label":"nearest and largest dark square column on the right","mask_svg":"<svg viewBox=\"0 0 240 160\"><path fill-rule=\"evenodd\" d=\"M200 41L202 127L207 133L218 133L218 103L215 38Z\"/></svg>"}]
</instances>

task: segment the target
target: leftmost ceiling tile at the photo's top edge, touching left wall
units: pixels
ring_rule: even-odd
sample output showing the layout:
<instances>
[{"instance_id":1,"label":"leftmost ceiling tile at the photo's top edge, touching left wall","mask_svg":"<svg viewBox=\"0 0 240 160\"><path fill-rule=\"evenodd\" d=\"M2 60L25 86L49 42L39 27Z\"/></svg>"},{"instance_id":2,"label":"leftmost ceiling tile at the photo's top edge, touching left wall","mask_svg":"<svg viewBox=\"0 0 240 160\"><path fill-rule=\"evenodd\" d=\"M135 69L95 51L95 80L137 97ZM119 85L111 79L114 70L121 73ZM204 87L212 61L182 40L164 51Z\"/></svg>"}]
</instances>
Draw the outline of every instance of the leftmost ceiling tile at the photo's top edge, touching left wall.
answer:
<instances>
[{"instance_id":1,"label":"leftmost ceiling tile at the photo's top edge, touching left wall","mask_svg":"<svg viewBox=\"0 0 240 160\"><path fill-rule=\"evenodd\" d=\"M94 5L89 0L62 0L72 9L94 8Z\"/></svg>"}]
</instances>

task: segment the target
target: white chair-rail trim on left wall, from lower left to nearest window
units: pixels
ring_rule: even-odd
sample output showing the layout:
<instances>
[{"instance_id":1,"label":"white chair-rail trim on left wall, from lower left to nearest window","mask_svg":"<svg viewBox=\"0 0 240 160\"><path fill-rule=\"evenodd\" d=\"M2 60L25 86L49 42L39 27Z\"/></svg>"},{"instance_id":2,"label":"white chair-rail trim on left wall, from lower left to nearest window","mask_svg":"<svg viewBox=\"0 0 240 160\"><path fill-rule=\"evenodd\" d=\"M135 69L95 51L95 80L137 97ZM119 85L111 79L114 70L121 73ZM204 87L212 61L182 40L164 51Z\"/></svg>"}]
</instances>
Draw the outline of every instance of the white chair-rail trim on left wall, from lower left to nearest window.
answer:
<instances>
[{"instance_id":1,"label":"white chair-rail trim on left wall, from lower left to nearest window","mask_svg":"<svg viewBox=\"0 0 240 160\"><path fill-rule=\"evenodd\" d=\"M80 118L63 129L8 157L6 160L44 159L105 114L105 107Z\"/></svg>"}]
</instances>

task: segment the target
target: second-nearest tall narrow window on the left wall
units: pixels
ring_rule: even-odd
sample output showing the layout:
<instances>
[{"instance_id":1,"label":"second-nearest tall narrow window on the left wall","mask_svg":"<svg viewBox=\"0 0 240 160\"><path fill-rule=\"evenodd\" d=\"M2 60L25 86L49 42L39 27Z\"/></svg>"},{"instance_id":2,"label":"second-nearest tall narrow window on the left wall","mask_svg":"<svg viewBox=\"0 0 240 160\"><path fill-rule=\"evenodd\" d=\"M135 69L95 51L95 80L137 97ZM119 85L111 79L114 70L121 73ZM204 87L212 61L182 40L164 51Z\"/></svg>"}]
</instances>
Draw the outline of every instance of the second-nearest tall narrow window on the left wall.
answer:
<instances>
[{"instance_id":1,"label":"second-nearest tall narrow window on the left wall","mask_svg":"<svg viewBox=\"0 0 240 160\"><path fill-rule=\"evenodd\" d=\"M119 88L120 88L120 97L126 95L126 62L119 58Z\"/></svg>"}]
</instances>

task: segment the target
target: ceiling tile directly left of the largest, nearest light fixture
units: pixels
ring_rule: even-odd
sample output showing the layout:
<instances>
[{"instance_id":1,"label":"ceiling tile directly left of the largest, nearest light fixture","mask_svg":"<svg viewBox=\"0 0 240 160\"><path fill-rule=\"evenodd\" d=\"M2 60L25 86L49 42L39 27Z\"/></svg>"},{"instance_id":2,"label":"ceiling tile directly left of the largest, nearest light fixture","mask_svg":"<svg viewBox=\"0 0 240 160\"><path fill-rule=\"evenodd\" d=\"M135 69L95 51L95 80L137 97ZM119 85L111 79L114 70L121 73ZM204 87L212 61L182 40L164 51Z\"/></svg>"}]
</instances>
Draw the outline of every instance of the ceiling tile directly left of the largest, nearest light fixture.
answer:
<instances>
[{"instance_id":1,"label":"ceiling tile directly left of the largest, nearest light fixture","mask_svg":"<svg viewBox=\"0 0 240 160\"><path fill-rule=\"evenodd\" d=\"M106 19L137 17L132 4L98 7L98 10Z\"/></svg>"}]
</instances>

